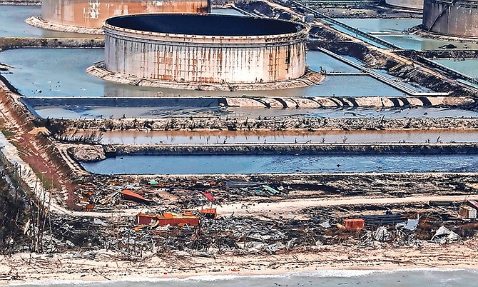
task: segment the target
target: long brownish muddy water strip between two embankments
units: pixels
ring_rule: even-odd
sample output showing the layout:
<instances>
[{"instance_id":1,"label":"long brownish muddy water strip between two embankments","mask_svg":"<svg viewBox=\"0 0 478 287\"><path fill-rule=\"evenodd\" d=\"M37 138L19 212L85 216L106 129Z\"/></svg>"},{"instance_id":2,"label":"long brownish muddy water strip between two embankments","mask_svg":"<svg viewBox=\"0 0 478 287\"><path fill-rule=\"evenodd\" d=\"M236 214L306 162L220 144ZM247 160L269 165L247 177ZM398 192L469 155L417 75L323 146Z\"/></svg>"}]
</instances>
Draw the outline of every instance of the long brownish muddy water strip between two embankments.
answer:
<instances>
[{"instance_id":1,"label":"long brownish muddy water strip between two embankments","mask_svg":"<svg viewBox=\"0 0 478 287\"><path fill-rule=\"evenodd\" d=\"M91 132L90 132L91 133ZM86 136L88 132L69 134ZM476 142L478 130L414 131L111 131L98 134L99 144L304 144L304 143L424 143ZM68 140L68 138L66 138Z\"/></svg>"}]
</instances>

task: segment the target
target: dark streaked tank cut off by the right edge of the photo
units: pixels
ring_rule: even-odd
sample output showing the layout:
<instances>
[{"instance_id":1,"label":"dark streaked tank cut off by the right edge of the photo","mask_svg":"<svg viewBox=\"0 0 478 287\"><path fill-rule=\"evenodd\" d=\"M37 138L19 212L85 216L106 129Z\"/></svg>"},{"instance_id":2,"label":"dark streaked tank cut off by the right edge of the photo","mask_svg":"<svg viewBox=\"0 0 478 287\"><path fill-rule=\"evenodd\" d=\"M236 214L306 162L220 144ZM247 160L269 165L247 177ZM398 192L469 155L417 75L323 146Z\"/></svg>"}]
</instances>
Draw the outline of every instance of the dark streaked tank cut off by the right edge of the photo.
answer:
<instances>
[{"instance_id":1,"label":"dark streaked tank cut off by the right edge of the photo","mask_svg":"<svg viewBox=\"0 0 478 287\"><path fill-rule=\"evenodd\" d=\"M478 37L478 1L424 0L423 27L437 34Z\"/></svg>"}]
</instances>

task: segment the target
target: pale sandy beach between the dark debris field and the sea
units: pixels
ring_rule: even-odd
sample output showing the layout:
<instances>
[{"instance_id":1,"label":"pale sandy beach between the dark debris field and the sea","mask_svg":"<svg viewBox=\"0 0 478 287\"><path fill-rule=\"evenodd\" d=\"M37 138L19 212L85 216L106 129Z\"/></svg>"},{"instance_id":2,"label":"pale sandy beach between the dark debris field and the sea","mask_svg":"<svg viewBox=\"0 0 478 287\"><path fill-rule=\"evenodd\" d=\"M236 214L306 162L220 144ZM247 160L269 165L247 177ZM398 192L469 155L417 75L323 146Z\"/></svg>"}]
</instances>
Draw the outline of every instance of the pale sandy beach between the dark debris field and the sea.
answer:
<instances>
[{"instance_id":1,"label":"pale sandy beach between the dark debris field and the sea","mask_svg":"<svg viewBox=\"0 0 478 287\"><path fill-rule=\"evenodd\" d=\"M385 249L381 247L383 243L378 243L375 248L317 246L313 251L291 251L253 257L224 255L205 258L180 252L165 258L150 254L139 262L111 260L114 259L113 256L118 256L118 253L112 252L96 252L95 259L84 257L85 253L92 251L83 252L80 256L79 252L74 251L55 253L53 256L34 254L31 257L29 253L16 253L11 257L1 257L0 284L215 281L237 277L279 278L309 274L320 277L350 277L354 276L353 273L362 276L389 271L478 269L477 256L452 259L453 255L459 253L476 253L477 246L467 246L468 241L448 246L424 242L421 248ZM430 253L434 255L433 258L429 256ZM73 258L74 256L78 258ZM72 258L68 260L68 257ZM103 258L98 260L98 257ZM419 257L427 260L417 261ZM449 259L443 259L444 257ZM15 266L19 263L21 266Z\"/></svg>"}]
</instances>

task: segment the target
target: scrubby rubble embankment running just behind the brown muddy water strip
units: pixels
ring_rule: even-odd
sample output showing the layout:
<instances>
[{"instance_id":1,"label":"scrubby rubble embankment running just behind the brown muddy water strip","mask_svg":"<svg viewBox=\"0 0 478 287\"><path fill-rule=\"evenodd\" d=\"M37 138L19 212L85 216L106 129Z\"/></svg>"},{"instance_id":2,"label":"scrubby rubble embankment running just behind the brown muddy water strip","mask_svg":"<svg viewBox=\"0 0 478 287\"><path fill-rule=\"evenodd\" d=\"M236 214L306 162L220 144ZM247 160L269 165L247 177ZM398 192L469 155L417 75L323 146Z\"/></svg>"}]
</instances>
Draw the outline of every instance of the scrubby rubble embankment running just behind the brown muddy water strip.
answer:
<instances>
[{"instance_id":1,"label":"scrubby rubble embankment running just behind the brown muddy water strip","mask_svg":"<svg viewBox=\"0 0 478 287\"><path fill-rule=\"evenodd\" d=\"M360 131L478 129L477 118L283 118L258 119L178 118L178 119L50 119L52 125L95 131Z\"/></svg>"}]
</instances>

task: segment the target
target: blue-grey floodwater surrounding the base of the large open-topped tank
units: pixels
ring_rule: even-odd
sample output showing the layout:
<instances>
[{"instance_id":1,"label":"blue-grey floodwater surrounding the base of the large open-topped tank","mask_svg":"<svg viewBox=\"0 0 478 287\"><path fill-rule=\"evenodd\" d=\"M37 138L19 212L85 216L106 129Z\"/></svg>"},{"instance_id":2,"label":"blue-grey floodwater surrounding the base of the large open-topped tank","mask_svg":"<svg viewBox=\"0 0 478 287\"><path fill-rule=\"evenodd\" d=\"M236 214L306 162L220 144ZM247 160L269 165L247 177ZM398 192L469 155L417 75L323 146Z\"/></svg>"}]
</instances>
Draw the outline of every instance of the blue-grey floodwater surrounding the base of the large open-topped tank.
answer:
<instances>
[{"instance_id":1,"label":"blue-grey floodwater surrounding the base of the large open-topped tank","mask_svg":"<svg viewBox=\"0 0 478 287\"><path fill-rule=\"evenodd\" d=\"M327 76L317 86L273 91L185 91L113 84L86 74L104 58L103 49L16 49L0 53L0 62L13 66L4 74L25 96L401 96L370 76ZM309 51L307 64L328 71L350 71L340 61Z\"/></svg>"}]
</instances>

